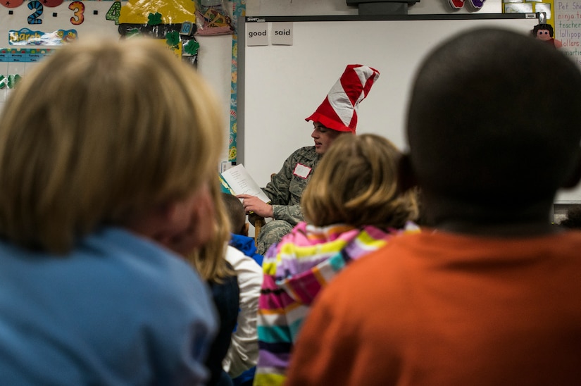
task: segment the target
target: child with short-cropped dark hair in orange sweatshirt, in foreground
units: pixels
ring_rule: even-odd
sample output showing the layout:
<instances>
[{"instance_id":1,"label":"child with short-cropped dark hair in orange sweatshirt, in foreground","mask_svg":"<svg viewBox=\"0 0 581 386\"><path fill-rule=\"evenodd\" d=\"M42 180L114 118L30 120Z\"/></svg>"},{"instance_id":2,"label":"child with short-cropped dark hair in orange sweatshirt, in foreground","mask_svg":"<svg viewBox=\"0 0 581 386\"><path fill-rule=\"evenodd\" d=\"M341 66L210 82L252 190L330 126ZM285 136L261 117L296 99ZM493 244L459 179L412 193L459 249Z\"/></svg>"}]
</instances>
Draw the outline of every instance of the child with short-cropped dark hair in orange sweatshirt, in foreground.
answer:
<instances>
[{"instance_id":1,"label":"child with short-cropped dark hair in orange sweatshirt, in foreground","mask_svg":"<svg viewBox=\"0 0 581 386\"><path fill-rule=\"evenodd\" d=\"M549 213L581 178L580 90L573 61L518 32L466 30L425 58L400 169L432 228L330 283L287 385L579 382L581 232Z\"/></svg>"}]
</instances>

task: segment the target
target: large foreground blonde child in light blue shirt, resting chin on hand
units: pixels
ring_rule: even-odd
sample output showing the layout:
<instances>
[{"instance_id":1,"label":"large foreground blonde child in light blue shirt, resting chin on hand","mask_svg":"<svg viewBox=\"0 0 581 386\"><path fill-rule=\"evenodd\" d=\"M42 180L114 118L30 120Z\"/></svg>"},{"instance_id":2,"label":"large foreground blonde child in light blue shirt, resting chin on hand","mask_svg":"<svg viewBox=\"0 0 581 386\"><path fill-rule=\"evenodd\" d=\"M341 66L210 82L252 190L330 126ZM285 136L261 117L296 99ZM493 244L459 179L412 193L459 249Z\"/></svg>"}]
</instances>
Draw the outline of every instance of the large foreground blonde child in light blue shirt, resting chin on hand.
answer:
<instances>
[{"instance_id":1,"label":"large foreground blonde child in light blue shirt, resting chin on hand","mask_svg":"<svg viewBox=\"0 0 581 386\"><path fill-rule=\"evenodd\" d=\"M83 39L0 117L0 383L203 383L222 111L158 42Z\"/></svg>"}]
</instances>

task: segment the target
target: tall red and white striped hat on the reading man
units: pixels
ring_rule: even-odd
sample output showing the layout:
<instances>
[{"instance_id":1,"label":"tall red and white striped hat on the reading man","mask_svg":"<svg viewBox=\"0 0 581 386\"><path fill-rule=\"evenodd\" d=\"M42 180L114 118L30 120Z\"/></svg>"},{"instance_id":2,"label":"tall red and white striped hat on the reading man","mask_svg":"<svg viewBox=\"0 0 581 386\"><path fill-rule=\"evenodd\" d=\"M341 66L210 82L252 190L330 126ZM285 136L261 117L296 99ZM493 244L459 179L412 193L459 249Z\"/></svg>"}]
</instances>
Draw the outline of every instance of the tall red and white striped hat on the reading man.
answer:
<instances>
[{"instance_id":1,"label":"tall red and white striped hat on the reading man","mask_svg":"<svg viewBox=\"0 0 581 386\"><path fill-rule=\"evenodd\" d=\"M332 130L355 132L359 102L367 97L379 71L349 64L317 110L305 120L319 122Z\"/></svg>"}]
</instances>

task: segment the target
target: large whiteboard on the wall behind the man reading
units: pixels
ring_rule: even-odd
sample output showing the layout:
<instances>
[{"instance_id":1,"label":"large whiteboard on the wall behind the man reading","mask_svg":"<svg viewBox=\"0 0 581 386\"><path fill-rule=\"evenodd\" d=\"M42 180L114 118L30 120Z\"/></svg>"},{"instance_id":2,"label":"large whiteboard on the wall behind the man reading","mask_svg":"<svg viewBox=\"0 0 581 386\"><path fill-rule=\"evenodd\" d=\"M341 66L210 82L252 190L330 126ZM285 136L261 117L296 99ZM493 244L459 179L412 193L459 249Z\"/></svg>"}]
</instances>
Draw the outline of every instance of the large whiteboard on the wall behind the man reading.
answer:
<instances>
[{"instance_id":1,"label":"large whiteboard on the wall behind the man reading","mask_svg":"<svg viewBox=\"0 0 581 386\"><path fill-rule=\"evenodd\" d=\"M435 44L470 27L504 27L530 34L539 23L535 13L266 16L251 20L246 17L239 23L237 162L244 163L260 186L280 170L292 151L313 144L313 123L304 118L316 110L347 64L380 71L359 106L358 134L377 133L406 149L409 88L421 59ZM269 40L267 46L247 46L244 42L249 23L265 23L270 39L273 23L278 22L292 23L292 45L273 45Z\"/></svg>"}]
</instances>

